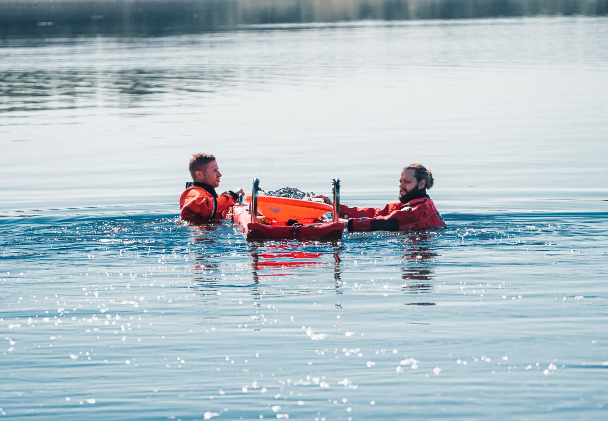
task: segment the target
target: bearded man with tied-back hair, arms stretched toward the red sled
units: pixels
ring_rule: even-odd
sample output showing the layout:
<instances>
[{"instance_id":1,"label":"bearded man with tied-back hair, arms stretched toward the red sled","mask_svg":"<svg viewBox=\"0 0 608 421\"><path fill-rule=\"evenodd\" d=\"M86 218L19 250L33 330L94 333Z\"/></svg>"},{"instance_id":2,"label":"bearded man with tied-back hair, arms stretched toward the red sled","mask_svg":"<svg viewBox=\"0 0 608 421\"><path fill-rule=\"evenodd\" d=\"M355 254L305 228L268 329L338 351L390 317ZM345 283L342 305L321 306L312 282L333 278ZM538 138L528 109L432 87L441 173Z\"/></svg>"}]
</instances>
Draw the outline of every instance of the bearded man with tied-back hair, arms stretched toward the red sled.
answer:
<instances>
[{"instance_id":1,"label":"bearded man with tied-back hair, arms stretched toward the red sled","mask_svg":"<svg viewBox=\"0 0 608 421\"><path fill-rule=\"evenodd\" d=\"M446 228L446 223L426 190L433 187L432 173L424 165L410 164L401 170L399 201L383 209L340 204L340 218L348 231L423 231ZM326 203L331 200L322 196Z\"/></svg>"}]
</instances>

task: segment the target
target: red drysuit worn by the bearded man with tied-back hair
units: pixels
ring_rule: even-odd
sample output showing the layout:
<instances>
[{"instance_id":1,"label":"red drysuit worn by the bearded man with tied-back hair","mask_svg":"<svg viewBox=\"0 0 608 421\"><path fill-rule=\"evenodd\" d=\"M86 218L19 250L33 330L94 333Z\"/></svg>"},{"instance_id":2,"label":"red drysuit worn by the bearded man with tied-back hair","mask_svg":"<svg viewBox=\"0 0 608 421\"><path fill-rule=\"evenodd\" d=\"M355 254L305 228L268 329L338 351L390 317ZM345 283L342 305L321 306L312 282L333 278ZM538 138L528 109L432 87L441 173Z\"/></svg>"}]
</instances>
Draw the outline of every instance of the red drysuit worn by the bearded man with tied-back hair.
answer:
<instances>
[{"instance_id":1,"label":"red drysuit worn by the bearded man with tied-back hair","mask_svg":"<svg viewBox=\"0 0 608 421\"><path fill-rule=\"evenodd\" d=\"M428 195L408 203L378 207L340 205L340 218L348 219L348 231L423 231L446 228L446 223Z\"/></svg>"}]
</instances>

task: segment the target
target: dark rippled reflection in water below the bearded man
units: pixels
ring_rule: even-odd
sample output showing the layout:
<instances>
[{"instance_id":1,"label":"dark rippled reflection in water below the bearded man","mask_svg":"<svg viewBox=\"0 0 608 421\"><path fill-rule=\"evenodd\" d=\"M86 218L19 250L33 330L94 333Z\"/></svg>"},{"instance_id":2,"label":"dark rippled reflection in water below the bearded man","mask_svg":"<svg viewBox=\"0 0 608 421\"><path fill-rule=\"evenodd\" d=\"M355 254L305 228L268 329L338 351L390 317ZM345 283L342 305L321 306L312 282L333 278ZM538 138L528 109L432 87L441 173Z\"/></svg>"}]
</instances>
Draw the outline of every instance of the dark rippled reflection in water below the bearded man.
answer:
<instances>
[{"instance_id":1,"label":"dark rippled reflection in water below the bearded man","mask_svg":"<svg viewBox=\"0 0 608 421\"><path fill-rule=\"evenodd\" d=\"M406 238L401 268L402 286L407 294L430 293L433 291L433 263L437 254L430 248L430 235L411 235ZM413 302L406 305L435 305L432 302Z\"/></svg>"}]
</instances>

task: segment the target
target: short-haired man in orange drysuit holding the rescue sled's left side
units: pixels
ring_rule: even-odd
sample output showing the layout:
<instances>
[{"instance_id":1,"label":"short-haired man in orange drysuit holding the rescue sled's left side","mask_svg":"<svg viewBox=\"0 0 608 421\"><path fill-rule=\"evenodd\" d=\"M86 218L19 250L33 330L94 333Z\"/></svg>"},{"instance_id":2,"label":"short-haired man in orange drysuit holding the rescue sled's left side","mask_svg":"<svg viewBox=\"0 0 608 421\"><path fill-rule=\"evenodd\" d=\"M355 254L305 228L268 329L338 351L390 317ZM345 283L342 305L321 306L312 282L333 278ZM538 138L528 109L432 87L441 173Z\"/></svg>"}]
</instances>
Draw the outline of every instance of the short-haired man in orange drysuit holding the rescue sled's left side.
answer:
<instances>
[{"instance_id":1,"label":"short-haired man in orange drysuit holding the rescue sled's left side","mask_svg":"<svg viewBox=\"0 0 608 421\"><path fill-rule=\"evenodd\" d=\"M222 175L215 156L210 153L192 155L188 170L193 181L186 183L186 189L179 198L182 219L199 224L226 218L228 208L235 204L239 194L243 194L243 189L237 192L228 190L221 195L215 192Z\"/></svg>"}]
</instances>

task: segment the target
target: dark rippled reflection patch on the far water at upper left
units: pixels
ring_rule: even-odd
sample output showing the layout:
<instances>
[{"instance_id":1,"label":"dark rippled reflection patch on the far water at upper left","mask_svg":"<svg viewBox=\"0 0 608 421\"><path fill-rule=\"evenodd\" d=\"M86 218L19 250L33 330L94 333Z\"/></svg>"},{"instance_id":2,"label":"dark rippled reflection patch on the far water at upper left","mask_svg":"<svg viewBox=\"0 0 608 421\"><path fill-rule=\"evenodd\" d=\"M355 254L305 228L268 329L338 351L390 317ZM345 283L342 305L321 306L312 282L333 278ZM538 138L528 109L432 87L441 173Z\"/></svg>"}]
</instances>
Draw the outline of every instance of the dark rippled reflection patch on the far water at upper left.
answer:
<instances>
[{"instance_id":1,"label":"dark rippled reflection patch on the far water at upper left","mask_svg":"<svg viewBox=\"0 0 608 421\"><path fill-rule=\"evenodd\" d=\"M58 54L65 54L65 51ZM98 106L103 97L118 106L132 107L159 94L216 92L232 85L235 78L233 69L216 66L179 71L162 68L0 69L0 111L82 108L88 101L91 102L89 106Z\"/></svg>"}]
</instances>

